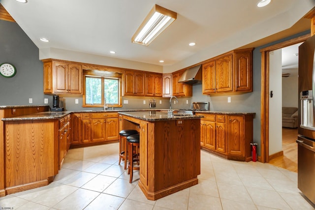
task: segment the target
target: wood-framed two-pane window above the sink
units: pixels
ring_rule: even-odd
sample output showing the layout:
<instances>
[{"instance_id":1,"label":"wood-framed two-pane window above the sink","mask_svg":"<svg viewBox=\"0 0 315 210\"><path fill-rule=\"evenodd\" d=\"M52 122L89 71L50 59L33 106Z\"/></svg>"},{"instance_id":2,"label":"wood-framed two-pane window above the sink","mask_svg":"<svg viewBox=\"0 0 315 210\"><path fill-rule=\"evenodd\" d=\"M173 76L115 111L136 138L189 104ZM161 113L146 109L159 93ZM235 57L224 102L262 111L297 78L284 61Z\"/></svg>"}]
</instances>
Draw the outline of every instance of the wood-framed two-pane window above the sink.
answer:
<instances>
[{"instance_id":1,"label":"wood-framed two-pane window above the sink","mask_svg":"<svg viewBox=\"0 0 315 210\"><path fill-rule=\"evenodd\" d=\"M83 106L102 107L104 102L111 107L121 106L121 78L84 75Z\"/></svg>"}]
</instances>

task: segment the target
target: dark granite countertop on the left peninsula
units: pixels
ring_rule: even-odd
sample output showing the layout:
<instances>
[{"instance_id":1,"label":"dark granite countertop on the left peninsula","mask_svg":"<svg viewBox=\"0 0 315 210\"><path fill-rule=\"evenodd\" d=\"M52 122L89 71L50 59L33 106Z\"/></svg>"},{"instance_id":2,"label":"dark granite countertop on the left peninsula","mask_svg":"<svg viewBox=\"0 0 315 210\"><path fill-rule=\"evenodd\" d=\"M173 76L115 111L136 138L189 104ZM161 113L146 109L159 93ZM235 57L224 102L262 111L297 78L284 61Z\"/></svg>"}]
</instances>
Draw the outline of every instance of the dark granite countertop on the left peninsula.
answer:
<instances>
[{"instance_id":1,"label":"dark granite countertop on the left peninsula","mask_svg":"<svg viewBox=\"0 0 315 210\"><path fill-rule=\"evenodd\" d=\"M2 121L16 121L16 120L54 120L65 117L66 115L71 114L70 111L64 112L39 112L30 115L22 115L12 118L2 118Z\"/></svg>"}]
</instances>

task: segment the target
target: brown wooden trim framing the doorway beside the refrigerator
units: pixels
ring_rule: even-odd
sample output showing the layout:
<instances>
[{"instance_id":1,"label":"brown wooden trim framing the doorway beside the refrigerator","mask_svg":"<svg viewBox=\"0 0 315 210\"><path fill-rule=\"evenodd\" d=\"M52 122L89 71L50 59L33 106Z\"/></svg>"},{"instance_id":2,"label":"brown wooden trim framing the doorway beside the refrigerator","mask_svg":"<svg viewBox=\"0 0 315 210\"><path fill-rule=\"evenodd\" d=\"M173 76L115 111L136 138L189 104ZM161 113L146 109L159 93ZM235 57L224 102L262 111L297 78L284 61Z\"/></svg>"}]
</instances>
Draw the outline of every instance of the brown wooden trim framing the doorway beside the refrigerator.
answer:
<instances>
[{"instance_id":1,"label":"brown wooden trim framing the doorway beside the refrigerator","mask_svg":"<svg viewBox=\"0 0 315 210\"><path fill-rule=\"evenodd\" d=\"M260 161L269 162L269 99L270 99L270 90L269 90L269 73L270 73L270 52L278 50L290 45L294 45L300 42L304 42L311 35L303 35L282 43L272 45L260 50L261 52L261 152L260 152Z\"/></svg>"}]
</instances>

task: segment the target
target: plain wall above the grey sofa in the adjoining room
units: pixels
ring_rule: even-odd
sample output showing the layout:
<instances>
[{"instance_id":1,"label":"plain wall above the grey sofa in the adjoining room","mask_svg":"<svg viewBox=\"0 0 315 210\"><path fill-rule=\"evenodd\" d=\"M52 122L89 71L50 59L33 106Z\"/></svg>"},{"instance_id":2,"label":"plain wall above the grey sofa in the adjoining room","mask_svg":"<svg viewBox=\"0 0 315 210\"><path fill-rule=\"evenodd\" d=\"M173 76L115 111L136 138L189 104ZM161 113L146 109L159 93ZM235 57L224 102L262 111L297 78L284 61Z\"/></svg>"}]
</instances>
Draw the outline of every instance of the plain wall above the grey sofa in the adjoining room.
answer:
<instances>
[{"instance_id":1,"label":"plain wall above the grey sofa in the adjoining room","mask_svg":"<svg viewBox=\"0 0 315 210\"><path fill-rule=\"evenodd\" d=\"M297 71L297 70L296 70ZM298 77L291 75L282 78L282 106L298 107Z\"/></svg>"}]
</instances>

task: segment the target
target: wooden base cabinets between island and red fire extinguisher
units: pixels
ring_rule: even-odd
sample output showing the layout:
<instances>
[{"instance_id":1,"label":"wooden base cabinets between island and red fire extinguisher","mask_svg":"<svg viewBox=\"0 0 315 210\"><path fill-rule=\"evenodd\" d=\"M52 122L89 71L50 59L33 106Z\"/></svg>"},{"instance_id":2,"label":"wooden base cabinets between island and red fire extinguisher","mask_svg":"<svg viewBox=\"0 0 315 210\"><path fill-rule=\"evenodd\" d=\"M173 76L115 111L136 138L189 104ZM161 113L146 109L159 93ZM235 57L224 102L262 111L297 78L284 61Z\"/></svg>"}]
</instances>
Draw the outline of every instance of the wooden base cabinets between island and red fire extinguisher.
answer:
<instances>
[{"instance_id":1,"label":"wooden base cabinets between island and red fire extinguisher","mask_svg":"<svg viewBox=\"0 0 315 210\"><path fill-rule=\"evenodd\" d=\"M200 120L200 145L227 159L251 161L252 114L204 114ZM245 129L246 128L246 129Z\"/></svg>"}]
</instances>

